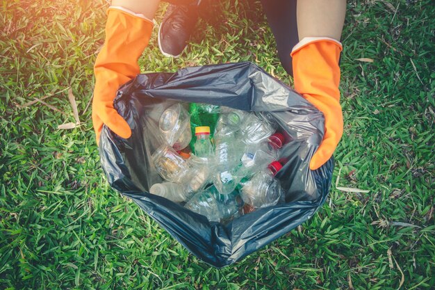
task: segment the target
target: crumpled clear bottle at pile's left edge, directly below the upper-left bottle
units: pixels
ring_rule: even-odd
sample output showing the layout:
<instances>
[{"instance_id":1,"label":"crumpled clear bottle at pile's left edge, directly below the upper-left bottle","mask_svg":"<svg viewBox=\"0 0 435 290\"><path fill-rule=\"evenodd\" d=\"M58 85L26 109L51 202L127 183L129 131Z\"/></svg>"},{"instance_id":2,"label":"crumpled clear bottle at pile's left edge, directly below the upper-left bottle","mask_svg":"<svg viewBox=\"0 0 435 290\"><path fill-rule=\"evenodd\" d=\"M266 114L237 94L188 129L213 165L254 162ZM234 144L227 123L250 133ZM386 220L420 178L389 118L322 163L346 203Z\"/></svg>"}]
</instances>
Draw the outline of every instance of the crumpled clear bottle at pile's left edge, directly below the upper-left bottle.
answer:
<instances>
[{"instance_id":1,"label":"crumpled clear bottle at pile's left edge, directly below the upper-left bottle","mask_svg":"<svg viewBox=\"0 0 435 290\"><path fill-rule=\"evenodd\" d=\"M162 145L151 155L158 174L169 182L181 183L188 172L188 161L184 160L174 148Z\"/></svg>"}]
</instances>

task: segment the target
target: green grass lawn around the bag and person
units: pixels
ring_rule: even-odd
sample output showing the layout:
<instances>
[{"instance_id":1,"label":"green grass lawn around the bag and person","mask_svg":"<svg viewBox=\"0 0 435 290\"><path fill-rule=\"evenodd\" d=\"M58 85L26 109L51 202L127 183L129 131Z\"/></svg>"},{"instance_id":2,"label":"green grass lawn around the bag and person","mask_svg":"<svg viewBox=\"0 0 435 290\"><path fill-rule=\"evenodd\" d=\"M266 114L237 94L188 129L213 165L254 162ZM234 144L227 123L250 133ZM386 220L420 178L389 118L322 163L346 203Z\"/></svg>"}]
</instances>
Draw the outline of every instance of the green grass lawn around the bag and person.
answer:
<instances>
[{"instance_id":1,"label":"green grass lawn around the bag and person","mask_svg":"<svg viewBox=\"0 0 435 290\"><path fill-rule=\"evenodd\" d=\"M216 6L176 60L161 56L155 30L142 71L252 61L290 84L261 4ZM105 7L2 1L0 289L434 289L433 1L348 3L334 182L342 169L339 186L370 193L333 186L307 223L220 270L104 178L86 108ZM83 124L58 130L74 122L68 87ZM44 96L51 107L22 107Z\"/></svg>"}]
</instances>

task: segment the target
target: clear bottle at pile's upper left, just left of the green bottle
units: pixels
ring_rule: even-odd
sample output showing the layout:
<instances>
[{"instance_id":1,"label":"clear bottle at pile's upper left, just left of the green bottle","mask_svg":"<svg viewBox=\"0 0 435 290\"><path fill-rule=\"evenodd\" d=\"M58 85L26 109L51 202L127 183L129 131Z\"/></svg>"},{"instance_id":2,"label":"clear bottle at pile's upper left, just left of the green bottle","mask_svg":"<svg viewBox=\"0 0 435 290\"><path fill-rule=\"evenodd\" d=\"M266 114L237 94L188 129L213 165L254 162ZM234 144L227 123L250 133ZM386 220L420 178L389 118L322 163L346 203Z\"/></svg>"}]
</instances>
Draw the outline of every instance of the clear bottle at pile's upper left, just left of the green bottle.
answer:
<instances>
[{"instance_id":1,"label":"clear bottle at pile's upper left, just left of the green bottle","mask_svg":"<svg viewBox=\"0 0 435 290\"><path fill-rule=\"evenodd\" d=\"M190 115L181 104L173 104L163 111L158 127L167 143L175 150L182 150L192 139Z\"/></svg>"}]
</instances>

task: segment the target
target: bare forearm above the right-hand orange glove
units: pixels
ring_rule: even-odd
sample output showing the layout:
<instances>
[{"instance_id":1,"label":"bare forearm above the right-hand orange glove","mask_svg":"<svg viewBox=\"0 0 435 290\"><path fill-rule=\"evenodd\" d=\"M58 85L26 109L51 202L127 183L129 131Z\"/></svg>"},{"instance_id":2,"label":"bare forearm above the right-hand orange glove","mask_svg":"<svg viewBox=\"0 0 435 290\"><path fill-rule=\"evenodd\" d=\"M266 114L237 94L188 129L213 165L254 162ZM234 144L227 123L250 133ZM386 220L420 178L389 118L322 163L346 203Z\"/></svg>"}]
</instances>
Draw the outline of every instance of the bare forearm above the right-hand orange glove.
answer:
<instances>
[{"instance_id":1,"label":"bare forearm above the right-hand orange glove","mask_svg":"<svg viewBox=\"0 0 435 290\"><path fill-rule=\"evenodd\" d=\"M297 1L299 40L306 37L327 37L340 40L345 23L345 0Z\"/></svg>"}]
</instances>

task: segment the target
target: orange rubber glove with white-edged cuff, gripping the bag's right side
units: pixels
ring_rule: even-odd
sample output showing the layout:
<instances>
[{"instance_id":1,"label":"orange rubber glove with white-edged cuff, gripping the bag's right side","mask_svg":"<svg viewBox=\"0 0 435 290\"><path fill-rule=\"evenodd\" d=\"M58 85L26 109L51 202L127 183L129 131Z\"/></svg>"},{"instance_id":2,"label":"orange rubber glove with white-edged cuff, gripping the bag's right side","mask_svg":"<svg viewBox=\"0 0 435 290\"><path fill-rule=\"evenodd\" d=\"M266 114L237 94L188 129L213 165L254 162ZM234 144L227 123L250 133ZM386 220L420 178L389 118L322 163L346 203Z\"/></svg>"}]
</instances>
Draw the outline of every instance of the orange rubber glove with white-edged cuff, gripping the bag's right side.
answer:
<instances>
[{"instance_id":1,"label":"orange rubber glove with white-edged cuff, gripping the bag's right side","mask_svg":"<svg viewBox=\"0 0 435 290\"><path fill-rule=\"evenodd\" d=\"M343 48L332 38L304 38L291 52L295 90L325 115L325 135L310 161L311 170L325 164L343 135L340 67Z\"/></svg>"}]
</instances>

